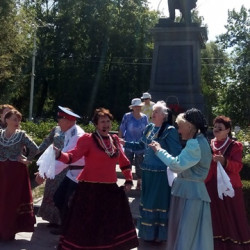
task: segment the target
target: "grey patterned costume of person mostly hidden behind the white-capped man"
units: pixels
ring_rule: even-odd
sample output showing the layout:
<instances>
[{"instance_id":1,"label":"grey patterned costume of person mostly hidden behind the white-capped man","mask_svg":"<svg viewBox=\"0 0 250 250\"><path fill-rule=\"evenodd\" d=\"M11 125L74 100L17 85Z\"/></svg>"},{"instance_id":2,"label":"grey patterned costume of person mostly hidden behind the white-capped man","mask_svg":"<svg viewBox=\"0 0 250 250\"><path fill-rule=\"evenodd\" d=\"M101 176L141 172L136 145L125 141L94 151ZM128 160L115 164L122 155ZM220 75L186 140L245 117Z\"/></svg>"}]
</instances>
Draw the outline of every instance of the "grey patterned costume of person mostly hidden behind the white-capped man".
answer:
<instances>
[{"instance_id":1,"label":"grey patterned costume of person mostly hidden behind the white-capped man","mask_svg":"<svg viewBox=\"0 0 250 250\"><path fill-rule=\"evenodd\" d=\"M62 149L64 146L64 133L59 126L54 127L49 135L43 140L39 146L39 152L46 150L51 144L55 147ZM60 225L61 217L58 208L55 206L53 197L67 173L67 169L63 170L60 174L56 175L54 179L47 179L42 204L38 210L38 216L43 220L49 221L51 224Z\"/></svg>"}]
</instances>

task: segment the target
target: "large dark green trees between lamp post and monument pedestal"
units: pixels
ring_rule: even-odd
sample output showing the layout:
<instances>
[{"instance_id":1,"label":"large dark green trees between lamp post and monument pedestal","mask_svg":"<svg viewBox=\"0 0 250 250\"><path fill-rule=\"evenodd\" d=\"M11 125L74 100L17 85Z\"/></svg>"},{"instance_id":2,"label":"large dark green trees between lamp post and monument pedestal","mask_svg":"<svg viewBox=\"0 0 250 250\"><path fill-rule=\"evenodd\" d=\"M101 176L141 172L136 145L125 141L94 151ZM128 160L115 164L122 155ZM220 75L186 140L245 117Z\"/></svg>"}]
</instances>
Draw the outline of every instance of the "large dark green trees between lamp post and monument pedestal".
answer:
<instances>
[{"instance_id":1,"label":"large dark green trees between lamp post and monument pedestal","mask_svg":"<svg viewBox=\"0 0 250 250\"><path fill-rule=\"evenodd\" d=\"M37 13L54 26L46 36L42 29L37 33L38 115L54 100L54 106L87 115L105 106L120 118L130 100L148 89L151 67L144 58L152 55L150 28L157 15L145 1L62 0Z\"/></svg>"}]
</instances>

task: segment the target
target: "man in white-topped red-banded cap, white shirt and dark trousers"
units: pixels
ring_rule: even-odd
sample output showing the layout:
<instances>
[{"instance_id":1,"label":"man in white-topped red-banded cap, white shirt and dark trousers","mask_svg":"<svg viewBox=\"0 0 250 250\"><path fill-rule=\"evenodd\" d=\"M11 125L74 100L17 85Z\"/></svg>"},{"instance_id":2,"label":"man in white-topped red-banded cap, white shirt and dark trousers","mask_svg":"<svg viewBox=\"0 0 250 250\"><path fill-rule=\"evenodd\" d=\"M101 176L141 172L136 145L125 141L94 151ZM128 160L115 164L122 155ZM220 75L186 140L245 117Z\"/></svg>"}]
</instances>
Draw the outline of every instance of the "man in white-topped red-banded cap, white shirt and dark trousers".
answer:
<instances>
[{"instance_id":1,"label":"man in white-topped red-banded cap, white shirt and dark trousers","mask_svg":"<svg viewBox=\"0 0 250 250\"><path fill-rule=\"evenodd\" d=\"M64 147L62 152L67 152L76 146L78 139L84 134L84 131L80 126L76 125L76 119L80 118L79 115L72 112L69 108L61 106L58 106L58 108L59 111L57 113L57 121L61 131L64 132ZM54 195L55 206L60 211L62 224L65 221L69 210L70 200L72 199L74 191L77 187L77 176L82 171L84 165L84 157L71 165L64 164L61 161L56 161L55 174L59 174L63 169L68 167L66 176ZM39 175L37 175L36 180L38 183L43 181L42 177ZM53 234L60 234L61 228L53 229L50 232Z\"/></svg>"}]
</instances>

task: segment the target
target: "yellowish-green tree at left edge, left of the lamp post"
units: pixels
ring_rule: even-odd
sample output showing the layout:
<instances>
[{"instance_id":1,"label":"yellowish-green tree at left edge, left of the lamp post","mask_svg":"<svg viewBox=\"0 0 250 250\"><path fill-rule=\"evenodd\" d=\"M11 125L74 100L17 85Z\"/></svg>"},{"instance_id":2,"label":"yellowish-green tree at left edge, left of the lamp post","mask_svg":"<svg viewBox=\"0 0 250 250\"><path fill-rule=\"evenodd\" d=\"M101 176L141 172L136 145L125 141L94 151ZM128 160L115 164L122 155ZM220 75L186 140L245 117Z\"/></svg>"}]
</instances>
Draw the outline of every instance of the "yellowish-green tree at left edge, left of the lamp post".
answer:
<instances>
[{"instance_id":1,"label":"yellowish-green tree at left edge, left of the lamp post","mask_svg":"<svg viewBox=\"0 0 250 250\"><path fill-rule=\"evenodd\" d=\"M0 99L21 111L26 108L20 103L26 98L25 84L30 77L26 72L31 51L27 20L27 13L15 1L0 2Z\"/></svg>"}]
</instances>

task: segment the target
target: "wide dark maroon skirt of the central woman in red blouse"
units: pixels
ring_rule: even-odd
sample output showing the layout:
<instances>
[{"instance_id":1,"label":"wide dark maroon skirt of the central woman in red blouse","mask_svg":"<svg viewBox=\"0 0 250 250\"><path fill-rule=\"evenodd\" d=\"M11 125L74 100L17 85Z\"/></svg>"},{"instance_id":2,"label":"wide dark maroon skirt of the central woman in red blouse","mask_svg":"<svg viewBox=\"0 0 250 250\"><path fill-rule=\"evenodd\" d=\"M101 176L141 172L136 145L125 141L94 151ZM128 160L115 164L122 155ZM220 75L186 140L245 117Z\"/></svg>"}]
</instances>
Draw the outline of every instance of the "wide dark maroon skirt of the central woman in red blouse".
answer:
<instances>
[{"instance_id":1,"label":"wide dark maroon skirt of the central woman in red blouse","mask_svg":"<svg viewBox=\"0 0 250 250\"><path fill-rule=\"evenodd\" d=\"M58 249L138 246L128 198L116 184L79 182Z\"/></svg>"}]
</instances>

